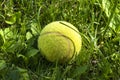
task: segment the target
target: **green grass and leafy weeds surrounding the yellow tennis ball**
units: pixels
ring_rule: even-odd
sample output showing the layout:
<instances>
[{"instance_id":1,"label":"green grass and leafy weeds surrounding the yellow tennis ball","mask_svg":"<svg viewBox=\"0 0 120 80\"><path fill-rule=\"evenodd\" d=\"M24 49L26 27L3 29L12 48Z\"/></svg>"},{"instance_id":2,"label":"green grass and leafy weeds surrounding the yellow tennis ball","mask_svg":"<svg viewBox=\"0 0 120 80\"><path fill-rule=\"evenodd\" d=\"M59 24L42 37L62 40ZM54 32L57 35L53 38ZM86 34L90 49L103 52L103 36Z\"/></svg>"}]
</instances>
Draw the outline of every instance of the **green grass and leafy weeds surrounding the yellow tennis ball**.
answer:
<instances>
[{"instance_id":1,"label":"green grass and leafy weeds surrounding the yellow tennis ball","mask_svg":"<svg viewBox=\"0 0 120 80\"><path fill-rule=\"evenodd\" d=\"M45 25L64 20L83 46L72 64L50 63L37 48ZM0 80L119 80L119 0L0 1Z\"/></svg>"}]
</instances>

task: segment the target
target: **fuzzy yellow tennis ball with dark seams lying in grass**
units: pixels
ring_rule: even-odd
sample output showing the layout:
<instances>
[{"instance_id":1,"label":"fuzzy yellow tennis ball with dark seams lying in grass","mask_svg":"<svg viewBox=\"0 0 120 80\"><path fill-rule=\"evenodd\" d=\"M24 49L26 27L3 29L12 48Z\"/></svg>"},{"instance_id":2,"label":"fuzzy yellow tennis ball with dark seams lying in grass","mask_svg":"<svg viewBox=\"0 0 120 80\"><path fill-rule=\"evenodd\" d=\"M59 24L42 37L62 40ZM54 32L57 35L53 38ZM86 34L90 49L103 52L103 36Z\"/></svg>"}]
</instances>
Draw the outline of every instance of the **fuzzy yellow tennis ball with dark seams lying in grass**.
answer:
<instances>
[{"instance_id":1,"label":"fuzzy yellow tennis ball with dark seams lying in grass","mask_svg":"<svg viewBox=\"0 0 120 80\"><path fill-rule=\"evenodd\" d=\"M50 62L69 62L81 50L79 31L65 21L55 21L46 25L38 38L41 54Z\"/></svg>"}]
</instances>

